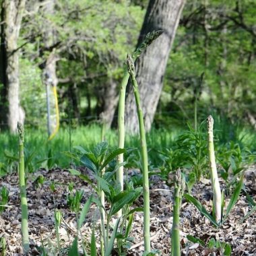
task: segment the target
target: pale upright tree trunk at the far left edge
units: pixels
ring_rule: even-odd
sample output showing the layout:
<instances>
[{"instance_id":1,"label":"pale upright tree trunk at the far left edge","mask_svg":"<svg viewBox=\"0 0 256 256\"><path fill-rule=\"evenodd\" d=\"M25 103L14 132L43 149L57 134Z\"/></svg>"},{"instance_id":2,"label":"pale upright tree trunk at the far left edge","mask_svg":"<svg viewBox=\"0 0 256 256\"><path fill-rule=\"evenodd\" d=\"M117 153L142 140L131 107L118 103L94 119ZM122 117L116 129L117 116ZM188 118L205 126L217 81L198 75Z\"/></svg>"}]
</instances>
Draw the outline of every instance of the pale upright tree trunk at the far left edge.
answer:
<instances>
[{"instance_id":1,"label":"pale upright tree trunk at the far left edge","mask_svg":"<svg viewBox=\"0 0 256 256\"><path fill-rule=\"evenodd\" d=\"M17 123L24 123L24 110L19 98L18 37L26 0L3 0L1 6L1 123L8 125L11 133Z\"/></svg>"}]
</instances>

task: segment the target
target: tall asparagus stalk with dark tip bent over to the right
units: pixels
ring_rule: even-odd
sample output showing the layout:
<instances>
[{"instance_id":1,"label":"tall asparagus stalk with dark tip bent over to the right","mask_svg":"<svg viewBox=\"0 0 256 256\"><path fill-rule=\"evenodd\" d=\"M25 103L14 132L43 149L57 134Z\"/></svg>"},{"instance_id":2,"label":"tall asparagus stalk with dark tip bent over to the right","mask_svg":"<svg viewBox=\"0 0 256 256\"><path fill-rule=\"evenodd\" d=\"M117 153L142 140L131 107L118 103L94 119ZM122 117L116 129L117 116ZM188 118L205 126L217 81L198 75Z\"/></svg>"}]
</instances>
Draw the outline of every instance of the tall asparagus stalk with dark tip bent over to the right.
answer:
<instances>
[{"instance_id":1,"label":"tall asparagus stalk with dark tip bent over to the right","mask_svg":"<svg viewBox=\"0 0 256 256\"><path fill-rule=\"evenodd\" d=\"M158 36L162 34L162 30L153 31L148 33L145 40L142 44L134 51L133 53L133 61L141 55L141 53L149 46ZM129 80L129 73L126 70L123 80L121 82L121 88L119 92L119 108L118 108L118 131L119 131L119 148L125 147L125 92L127 83ZM118 164L123 162L123 154L119 154L117 157ZM123 166L119 166L117 170L117 183L123 191ZM119 217L122 215L122 210L120 210L117 214Z\"/></svg>"}]
</instances>

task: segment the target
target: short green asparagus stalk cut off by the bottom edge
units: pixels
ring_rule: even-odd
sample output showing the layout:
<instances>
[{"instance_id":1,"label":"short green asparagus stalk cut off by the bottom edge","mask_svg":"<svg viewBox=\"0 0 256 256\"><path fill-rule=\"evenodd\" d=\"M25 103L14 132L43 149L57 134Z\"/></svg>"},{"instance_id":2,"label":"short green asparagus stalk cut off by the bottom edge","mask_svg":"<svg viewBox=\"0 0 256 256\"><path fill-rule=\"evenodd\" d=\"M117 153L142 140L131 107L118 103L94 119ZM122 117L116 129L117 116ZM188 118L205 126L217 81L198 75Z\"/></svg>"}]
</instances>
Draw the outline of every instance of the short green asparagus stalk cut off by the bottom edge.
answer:
<instances>
[{"instance_id":1,"label":"short green asparagus stalk cut off by the bottom edge","mask_svg":"<svg viewBox=\"0 0 256 256\"><path fill-rule=\"evenodd\" d=\"M185 191L185 181L181 175L181 170L177 170L175 175L174 203L173 203L173 221L172 221L172 256L181 255L179 218L181 209L181 200Z\"/></svg>"}]
</instances>

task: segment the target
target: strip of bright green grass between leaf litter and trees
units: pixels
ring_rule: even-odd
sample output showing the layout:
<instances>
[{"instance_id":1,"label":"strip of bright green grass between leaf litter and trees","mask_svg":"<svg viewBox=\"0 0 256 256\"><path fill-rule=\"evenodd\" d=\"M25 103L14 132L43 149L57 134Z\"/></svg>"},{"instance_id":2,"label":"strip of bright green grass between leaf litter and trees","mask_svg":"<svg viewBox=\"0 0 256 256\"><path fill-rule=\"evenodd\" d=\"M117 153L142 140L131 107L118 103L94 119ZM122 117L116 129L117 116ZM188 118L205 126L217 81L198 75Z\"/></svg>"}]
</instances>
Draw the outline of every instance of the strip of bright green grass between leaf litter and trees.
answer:
<instances>
[{"instance_id":1,"label":"strip of bright green grass between leaf litter and trees","mask_svg":"<svg viewBox=\"0 0 256 256\"><path fill-rule=\"evenodd\" d=\"M160 166L160 157L157 151L163 151L166 148L171 148L173 141L183 133L187 131L187 127L184 129L174 128L174 129L152 129L150 133L147 134L147 143L149 151L150 164L153 166ZM227 141L234 141L239 143L239 145L244 148L247 147L249 150L256 151L256 133L252 129L247 127L233 127L231 130L231 125L222 124L219 125L216 122L215 128L216 143L226 143ZM82 146L86 150L92 150L94 146L100 142L101 139L101 127L100 125L88 125L84 127L76 127L71 129L71 145L69 143L69 127L61 128L56 137L52 141L47 141L47 133L45 130L37 130L32 128L26 128L26 143L25 143L25 155L32 154L35 151L33 157L33 168L37 169L40 166L46 167L47 164L52 166L61 166L63 168L69 166L70 159L63 154L63 152L69 151L70 148L73 150L73 146ZM118 146L118 134L117 130L107 129L106 140L108 144L113 147ZM139 148L139 136L127 135L125 138L125 148ZM5 156L11 154L18 157L18 136L10 135L7 132L0 133L0 174L1 174L1 164L8 163ZM51 154L50 154L51 153ZM40 162L48 157L51 160L45 160L42 163L34 164ZM11 162L11 160L9 160ZM11 166L11 165L9 165Z\"/></svg>"}]
</instances>

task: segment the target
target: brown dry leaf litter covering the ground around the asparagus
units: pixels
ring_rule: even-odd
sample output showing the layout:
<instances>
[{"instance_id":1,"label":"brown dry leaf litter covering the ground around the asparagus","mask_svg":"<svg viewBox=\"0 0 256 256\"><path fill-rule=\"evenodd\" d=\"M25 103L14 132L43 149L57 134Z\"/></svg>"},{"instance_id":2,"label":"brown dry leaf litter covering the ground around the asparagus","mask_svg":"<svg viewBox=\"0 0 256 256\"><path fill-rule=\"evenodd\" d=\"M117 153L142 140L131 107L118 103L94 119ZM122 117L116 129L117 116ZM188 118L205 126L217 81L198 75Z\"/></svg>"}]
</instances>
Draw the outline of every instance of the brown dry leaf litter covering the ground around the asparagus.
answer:
<instances>
[{"instance_id":1,"label":"brown dry leaf litter covering the ground around the asparagus","mask_svg":"<svg viewBox=\"0 0 256 256\"><path fill-rule=\"evenodd\" d=\"M84 172L87 172L84 170ZM63 222L60 228L61 244L67 248L75 235L75 214L71 214L67 205L67 185L75 183L75 189L84 189L86 199L91 195L92 188L86 182L71 176L67 170L55 168L53 170L38 170L34 177L28 181L28 211L29 211L29 255L40 255L38 246L41 241L45 247L54 246L56 241L54 226L54 209L57 207L63 213ZM42 187L37 187L36 177L44 176ZM151 177L150 206L151 206L151 236L152 249L160 250L161 255L170 255L170 230L172 227L172 195L173 188L166 186L158 177ZM153 182L154 179L154 182ZM256 199L256 166L245 172L245 187L247 193ZM51 182L55 182L56 191L49 188ZM0 184L5 185L9 193L11 207L0 215L0 236L5 236L7 241L7 255L21 255L21 210L18 189L18 177L9 175L0 179ZM222 186L224 183L221 184ZM195 185L192 194L210 211L212 189L210 181L203 179ZM197 193L196 193L197 192ZM86 199L83 200L86 201ZM140 197L135 203L142 206ZM90 224L95 220L96 206L92 205L82 228L82 234L88 244L90 243ZM256 214L249 216L242 224L239 223L249 211L249 203L244 193L241 193L238 203L234 206L228 219L222 228L214 226L190 203L183 201L181 207L181 246L183 255L222 255L218 249L209 249L198 243L187 240L187 234L191 234L207 243L210 238L225 241L232 247L231 255L256 255ZM141 212L135 214L133 229L134 244L129 249L128 255L142 255L143 252L143 216ZM96 236L97 237L97 236ZM55 245L56 247L56 245ZM212 253L212 254L211 254ZM0 252L1 255L1 252ZM51 255L51 254L50 254Z\"/></svg>"}]
</instances>

